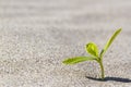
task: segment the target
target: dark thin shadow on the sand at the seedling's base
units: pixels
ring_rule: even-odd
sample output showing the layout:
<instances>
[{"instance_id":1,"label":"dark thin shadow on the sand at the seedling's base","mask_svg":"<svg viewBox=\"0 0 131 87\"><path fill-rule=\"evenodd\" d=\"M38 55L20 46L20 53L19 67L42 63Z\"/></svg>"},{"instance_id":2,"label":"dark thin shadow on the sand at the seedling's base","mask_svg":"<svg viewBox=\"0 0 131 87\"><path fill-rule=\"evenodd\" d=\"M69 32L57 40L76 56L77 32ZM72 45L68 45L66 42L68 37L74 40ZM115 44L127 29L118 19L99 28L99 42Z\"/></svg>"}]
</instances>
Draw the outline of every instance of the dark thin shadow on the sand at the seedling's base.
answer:
<instances>
[{"instance_id":1,"label":"dark thin shadow on the sand at the seedling's base","mask_svg":"<svg viewBox=\"0 0 131 87\"><path fill-rule=\"evenodd\" d=\"M105 79L102 79L102 78L95 78L95 77L86 76L86 78L93 79L93 80L99 80L99 82L114 80L114 82L120 82L120 83L131 83L131 79L129 79L129 78L121 78L121 77L105 77Z\"/></svg>"}]
</instances>

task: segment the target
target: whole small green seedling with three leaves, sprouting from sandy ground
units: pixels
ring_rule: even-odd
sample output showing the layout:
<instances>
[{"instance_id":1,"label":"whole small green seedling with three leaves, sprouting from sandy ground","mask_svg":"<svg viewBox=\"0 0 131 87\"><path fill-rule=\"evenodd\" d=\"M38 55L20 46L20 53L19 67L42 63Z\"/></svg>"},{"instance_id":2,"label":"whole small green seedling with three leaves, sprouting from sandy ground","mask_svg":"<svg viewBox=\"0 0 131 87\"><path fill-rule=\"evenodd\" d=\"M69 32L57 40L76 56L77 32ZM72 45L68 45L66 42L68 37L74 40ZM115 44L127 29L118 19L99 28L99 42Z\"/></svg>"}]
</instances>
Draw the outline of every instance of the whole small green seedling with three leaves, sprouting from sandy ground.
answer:
<instances>
[{"instance_id":1,"label":"whole small green seedling with three leaves, sprouting from sandy ground","mask_svg":"<svg viewBox=\"0 0 131 87\"><path fill-rule=\"evenodd\" d=\"M119 35L120 32L121 32L121 28L117 29L114 33L114 35L110 37L110 39L107 41L106 46L104 47L104 49L100 52L98 51L98 48L94 42L88 42L85 46L87 53L90 53L88 57L69 58L69 59L64 60L63 63L64 64L76 64L76 63L84 62L84 61L96 61L100 66L102 79L104 79L105 72L104 72L104 65L103 65L103 57L104 57L105 52L107 51L107 49L109 48L109 46L115 40L115 38Z\"/></svg>"}]
</instances>

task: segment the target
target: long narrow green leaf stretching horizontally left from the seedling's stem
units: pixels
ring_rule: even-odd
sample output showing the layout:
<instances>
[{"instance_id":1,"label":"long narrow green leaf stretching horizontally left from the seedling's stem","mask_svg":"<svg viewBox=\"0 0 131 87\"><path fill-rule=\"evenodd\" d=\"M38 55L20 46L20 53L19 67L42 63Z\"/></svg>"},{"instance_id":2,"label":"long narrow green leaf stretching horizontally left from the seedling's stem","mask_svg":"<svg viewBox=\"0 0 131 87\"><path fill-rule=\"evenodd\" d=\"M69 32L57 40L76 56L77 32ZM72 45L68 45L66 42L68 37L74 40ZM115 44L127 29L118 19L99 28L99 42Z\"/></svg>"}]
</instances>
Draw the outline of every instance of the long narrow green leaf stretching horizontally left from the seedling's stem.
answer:
<instances>
[{"instance_id":1,"label":"long narrow green leaf stretching horizontally left from the seedling's stem","mask_svg":"<svg viewBox=\"0 0 131 87\"><path fill-rule=\"evenodd\" d=\"M63 61L64 64L76 64L80 62L84 61L91 61L91 60L96 60L96 58L93 57L74 57L74 58L69 58Z\"/></svg>"}]
</instances>

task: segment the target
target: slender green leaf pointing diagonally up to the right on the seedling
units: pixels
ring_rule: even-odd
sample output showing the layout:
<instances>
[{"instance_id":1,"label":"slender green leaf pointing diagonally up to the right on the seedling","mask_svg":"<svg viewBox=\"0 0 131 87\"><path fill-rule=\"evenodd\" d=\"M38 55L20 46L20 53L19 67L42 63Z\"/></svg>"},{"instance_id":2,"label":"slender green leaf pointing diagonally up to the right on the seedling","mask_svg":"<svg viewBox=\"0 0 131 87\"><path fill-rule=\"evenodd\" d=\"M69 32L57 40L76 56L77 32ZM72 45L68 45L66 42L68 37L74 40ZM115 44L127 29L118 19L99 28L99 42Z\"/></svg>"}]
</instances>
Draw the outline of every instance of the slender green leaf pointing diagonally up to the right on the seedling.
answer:
<instances>
[{"instance_id":1,"label":"slender green leaf pointing diagonally up to the right on the seedling","mask_svg":"<svg viewBox=\"0 0 131 87\"><path fill-rule=\"evenodd\" d=\"M106 46L104 47L104 49L100 52L100 55L103 55L107 49L109 48L109 46L112 44L112 41L115 40L115 38L120 34L120 32L122 30L122 28L117 29L114 35L110 37L110 39L107 41Z\"/></svg>"}]
</instances>

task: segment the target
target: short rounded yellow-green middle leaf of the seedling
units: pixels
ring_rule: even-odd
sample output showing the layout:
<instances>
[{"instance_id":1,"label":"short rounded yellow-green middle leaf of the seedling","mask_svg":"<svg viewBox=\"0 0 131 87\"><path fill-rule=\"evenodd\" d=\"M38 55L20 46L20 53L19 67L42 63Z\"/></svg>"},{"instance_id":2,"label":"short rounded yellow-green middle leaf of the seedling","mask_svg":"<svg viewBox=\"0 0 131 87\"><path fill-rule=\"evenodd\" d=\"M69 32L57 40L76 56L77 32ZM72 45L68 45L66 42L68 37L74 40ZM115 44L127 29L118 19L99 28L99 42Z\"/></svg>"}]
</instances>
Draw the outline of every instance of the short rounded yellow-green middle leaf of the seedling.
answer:
<instances>
[{"instance_id":1,"label":"short rounded yellow-green middle leaf of the seedling","mask_svg":"<svg viewBox=\"0 0 131 87\"><path fill-rule=\"evenodd\" d=\"M98 48L94 42L86 45L86 51L94 57L98 57Z\"/></svg>"}]
</instances>

